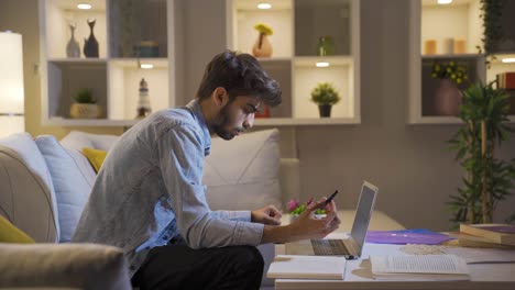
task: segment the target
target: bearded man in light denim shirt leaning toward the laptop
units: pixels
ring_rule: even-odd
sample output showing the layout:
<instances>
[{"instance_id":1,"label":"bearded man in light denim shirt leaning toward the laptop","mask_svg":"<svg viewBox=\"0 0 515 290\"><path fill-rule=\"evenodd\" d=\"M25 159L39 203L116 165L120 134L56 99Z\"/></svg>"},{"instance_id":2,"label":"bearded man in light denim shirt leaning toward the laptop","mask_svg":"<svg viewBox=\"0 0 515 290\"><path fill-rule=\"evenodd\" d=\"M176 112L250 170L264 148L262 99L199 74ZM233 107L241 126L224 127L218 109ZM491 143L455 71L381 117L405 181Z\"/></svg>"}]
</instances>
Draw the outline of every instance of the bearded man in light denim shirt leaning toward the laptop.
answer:
<instances>
[{"instance_id":1,"label":"bearded man in light denim shirt leaning toward the laptop","mask_svg":"<svg viewBox=\"0 0 515 290\"><path fill-rule=\"evenodd\" d=\"M258 289L256 245L322 237L340 223L333 202L326 219L310 217L324 200L286 226L273 205L210 211L201 183L210 135L250 129L263 103L280 104L281 89L254 57L215 56L195 100L147 116L112 147L73 241L122 248L141 289Z\"/></svg>"}]
</instances>

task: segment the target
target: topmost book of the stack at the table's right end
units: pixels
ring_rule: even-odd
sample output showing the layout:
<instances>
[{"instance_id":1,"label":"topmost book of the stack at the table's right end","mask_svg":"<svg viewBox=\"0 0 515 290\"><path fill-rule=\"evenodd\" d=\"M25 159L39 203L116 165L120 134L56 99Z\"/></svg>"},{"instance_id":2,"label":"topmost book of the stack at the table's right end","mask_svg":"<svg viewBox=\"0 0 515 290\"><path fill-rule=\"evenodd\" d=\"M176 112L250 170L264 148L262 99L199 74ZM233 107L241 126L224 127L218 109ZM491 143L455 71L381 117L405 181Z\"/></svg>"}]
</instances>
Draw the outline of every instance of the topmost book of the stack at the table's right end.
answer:
<instances>
[{"instance_id":1,"label":"topmost book of the stack at the table's right end","mask_svg":"<svg viewBox=\"0 0 515 290\"><path fill-rule=\"evenodd\" d=\"M515 225L511 224L460 224L460 233L481 236L492 243L515 245Z\"/></svg>"}]
</instances>

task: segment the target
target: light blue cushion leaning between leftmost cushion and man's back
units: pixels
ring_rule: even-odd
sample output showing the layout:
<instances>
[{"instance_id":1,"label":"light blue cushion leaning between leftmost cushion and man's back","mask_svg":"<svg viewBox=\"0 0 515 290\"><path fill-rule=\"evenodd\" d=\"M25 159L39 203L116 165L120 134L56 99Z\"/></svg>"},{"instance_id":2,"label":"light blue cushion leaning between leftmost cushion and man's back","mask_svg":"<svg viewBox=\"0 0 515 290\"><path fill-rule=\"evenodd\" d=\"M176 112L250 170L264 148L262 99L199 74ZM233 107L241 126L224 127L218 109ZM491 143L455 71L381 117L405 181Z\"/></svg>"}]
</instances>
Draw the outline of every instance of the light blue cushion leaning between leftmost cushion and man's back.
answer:
<instances>
[{"instance_id":1,"label":"light blue cushion leaning between leftmost cushion and man's back","mask_svg":"<svg viewBox=\"0 0 515 290\"><path fill-rule=\"evenodd\" d=\"M57 198L59 242L69 242L95 181L95 170L87 158L75 149L63 147L54 136L35 140L45 158Z\"/></svg>"}]
</instances>

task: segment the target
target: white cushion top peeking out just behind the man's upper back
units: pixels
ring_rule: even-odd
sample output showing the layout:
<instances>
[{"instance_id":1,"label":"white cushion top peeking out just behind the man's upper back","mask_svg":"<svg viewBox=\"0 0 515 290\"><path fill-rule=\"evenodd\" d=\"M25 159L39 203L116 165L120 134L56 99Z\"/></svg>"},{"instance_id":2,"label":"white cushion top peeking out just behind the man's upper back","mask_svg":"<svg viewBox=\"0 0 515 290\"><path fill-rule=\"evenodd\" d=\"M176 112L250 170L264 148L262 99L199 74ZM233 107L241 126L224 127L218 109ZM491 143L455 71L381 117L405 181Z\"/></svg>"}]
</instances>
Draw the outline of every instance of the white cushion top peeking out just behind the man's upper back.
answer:
<instances>
[{"instance_id":1,"label":"white cushion top peeking out just behind the man's upper back","mask_svg":"<svg viewBox=\"0 0 515 290\"><path fill-rule=\"evenodd\" d=\"M61 143L67 148L73 148L79 152L81 152L84 147L109 150L119 138L120 136L117 135L90 134L86 132L72 131L61 141Z\"/></svg>"}]
</instances>

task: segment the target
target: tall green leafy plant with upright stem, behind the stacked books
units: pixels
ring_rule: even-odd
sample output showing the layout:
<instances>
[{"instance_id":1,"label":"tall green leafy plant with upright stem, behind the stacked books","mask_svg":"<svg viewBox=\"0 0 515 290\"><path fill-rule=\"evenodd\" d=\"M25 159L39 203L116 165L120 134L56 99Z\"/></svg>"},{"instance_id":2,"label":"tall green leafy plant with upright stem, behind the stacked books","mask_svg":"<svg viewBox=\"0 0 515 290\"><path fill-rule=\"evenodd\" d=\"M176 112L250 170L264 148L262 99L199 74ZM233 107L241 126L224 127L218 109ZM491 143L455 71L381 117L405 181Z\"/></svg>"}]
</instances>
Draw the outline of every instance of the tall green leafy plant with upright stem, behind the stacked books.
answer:
<instances>
[{"instance_id":1,"label":"tall green leafy plant with upright stem, behind the stacked books","mask_svg":"<svg viewBox=\"0 0 515 290\"><path fill-rule=\"evenodd\" d=\"M463 90L459 116L465 125L449 141L465 171L463 186L449 202L454 225L491 223L495 207L515 187L515 158L501 160L494 155L496 146L513 132L504 124L508 121L509 94L493 83L478 82Z\"/></svg>"}]
</instances>

